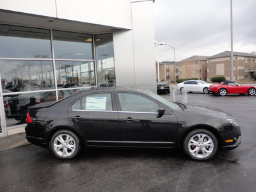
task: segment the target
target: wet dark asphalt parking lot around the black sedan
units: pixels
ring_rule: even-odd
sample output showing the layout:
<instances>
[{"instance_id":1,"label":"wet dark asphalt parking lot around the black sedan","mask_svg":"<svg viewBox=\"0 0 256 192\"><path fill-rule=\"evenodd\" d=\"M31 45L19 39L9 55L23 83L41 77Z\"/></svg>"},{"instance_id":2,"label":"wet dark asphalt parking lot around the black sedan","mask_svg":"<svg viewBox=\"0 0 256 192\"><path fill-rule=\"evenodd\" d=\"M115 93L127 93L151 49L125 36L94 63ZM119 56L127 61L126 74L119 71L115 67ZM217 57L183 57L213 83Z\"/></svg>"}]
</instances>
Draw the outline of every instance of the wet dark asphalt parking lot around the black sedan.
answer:
<instances>
[{"instance_id":1,"label":"wet dark asphalt parking lot around the black sedan","mask_svg":"<svg viewBox=\"0 0 256 192\"><path fill-rule=\"evenodd\" d=\"M180 102L181 93L175 99ZM188 103L236 116L241 145L204 162L170 149L86 150L63 161L24 145L0 152L0 191L255 191L256 97L188 93Z\"/></svg>"}]
</instances>

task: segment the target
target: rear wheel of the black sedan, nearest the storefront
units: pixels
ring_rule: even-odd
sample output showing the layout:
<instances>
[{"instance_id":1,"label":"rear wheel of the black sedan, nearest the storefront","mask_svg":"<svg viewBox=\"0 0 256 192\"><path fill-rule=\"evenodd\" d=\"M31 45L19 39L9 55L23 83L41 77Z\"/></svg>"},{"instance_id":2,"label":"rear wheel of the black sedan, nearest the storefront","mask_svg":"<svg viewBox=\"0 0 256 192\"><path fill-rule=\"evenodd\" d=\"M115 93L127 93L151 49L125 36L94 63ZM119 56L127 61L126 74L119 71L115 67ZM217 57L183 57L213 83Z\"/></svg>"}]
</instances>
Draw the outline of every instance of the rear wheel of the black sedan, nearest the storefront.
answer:
<instances>
[{"instance_id":1,"label":"rear wheel of the black sedan, nearest the storefront","mask_svg":"<svg viewBox=\"0 0 256 192\"><path fill-rule=\"evenodd\" d=\"M80 140L77 135L68 130L60 130L53 134L50 141L53 154L60 159L72 159L81 150Z\"/></svg>"}]
</instances>

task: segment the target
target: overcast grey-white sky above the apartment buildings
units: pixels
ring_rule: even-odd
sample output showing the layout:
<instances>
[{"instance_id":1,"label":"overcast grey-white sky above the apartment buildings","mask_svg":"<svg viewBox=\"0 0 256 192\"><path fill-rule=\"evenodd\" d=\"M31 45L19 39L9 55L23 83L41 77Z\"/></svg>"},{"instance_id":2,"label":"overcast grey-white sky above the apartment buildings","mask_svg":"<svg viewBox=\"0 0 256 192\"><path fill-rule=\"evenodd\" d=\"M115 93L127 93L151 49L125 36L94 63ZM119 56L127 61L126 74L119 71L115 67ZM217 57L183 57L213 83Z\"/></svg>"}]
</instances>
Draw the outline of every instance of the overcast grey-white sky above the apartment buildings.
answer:
<instances>
[{"instance_id":1,"label":"overcast grey-white sky above the apartment buildings","mask_svg":"<svg viewBox=\"0 0 256 192\"><path fill-rule=\"evenodd\" d=\"M233 0L233 50L256 51L256 0ZM176 61L231 51L230 0L156 0L155 40ZM173 61L161 45L159 61Z\"/></svg>"}]
</instances>

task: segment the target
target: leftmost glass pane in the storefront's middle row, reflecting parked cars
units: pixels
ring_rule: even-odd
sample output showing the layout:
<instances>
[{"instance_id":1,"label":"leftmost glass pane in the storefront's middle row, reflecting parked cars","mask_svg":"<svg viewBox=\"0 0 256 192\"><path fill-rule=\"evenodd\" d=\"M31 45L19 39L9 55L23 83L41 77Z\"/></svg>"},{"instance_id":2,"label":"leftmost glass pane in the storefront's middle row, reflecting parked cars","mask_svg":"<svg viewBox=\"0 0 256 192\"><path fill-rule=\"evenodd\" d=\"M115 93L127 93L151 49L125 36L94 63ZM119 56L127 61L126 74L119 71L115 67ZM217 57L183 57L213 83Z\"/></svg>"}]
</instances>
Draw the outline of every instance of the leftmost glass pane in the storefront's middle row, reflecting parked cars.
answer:
<instances>
[{"instance_id":1,"label":"leftmost glass pane in the storefront's middle row, reflecting parked cars","mask_svg":"<svg viewBox=\"0 0 256 192\"><path fill-rule=\"evenodd\" d=\"M2 88L28 92L54 88L52 61L1 60Z\"/></svg>"}]
</instances>

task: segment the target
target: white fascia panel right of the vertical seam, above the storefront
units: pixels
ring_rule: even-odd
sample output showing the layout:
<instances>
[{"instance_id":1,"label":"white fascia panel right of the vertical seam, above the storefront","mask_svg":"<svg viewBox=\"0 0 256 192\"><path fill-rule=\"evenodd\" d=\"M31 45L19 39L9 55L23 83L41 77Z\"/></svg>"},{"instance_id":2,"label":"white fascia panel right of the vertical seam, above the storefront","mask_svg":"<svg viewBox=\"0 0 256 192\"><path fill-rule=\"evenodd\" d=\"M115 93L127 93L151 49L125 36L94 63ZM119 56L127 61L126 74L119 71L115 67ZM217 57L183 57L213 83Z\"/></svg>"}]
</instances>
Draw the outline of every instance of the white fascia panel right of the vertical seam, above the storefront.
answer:
<instances>
[{"instance_id":1,"label":"white fascia panel right of the vertical seam, above the storefront","mask_svg":"<svg viewBox=\"0 0 256 192\"><path fill-rule=\"evenodd\" d=\"M56 0L56 4L58 19L132 28L131 0Z\"/></svg>"}]
</instances>

